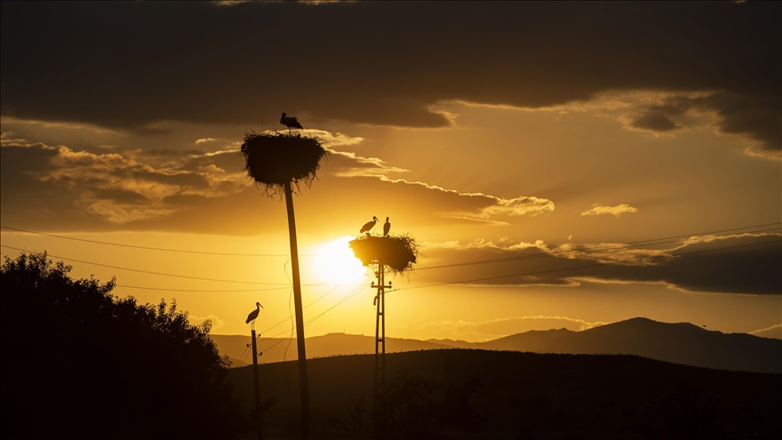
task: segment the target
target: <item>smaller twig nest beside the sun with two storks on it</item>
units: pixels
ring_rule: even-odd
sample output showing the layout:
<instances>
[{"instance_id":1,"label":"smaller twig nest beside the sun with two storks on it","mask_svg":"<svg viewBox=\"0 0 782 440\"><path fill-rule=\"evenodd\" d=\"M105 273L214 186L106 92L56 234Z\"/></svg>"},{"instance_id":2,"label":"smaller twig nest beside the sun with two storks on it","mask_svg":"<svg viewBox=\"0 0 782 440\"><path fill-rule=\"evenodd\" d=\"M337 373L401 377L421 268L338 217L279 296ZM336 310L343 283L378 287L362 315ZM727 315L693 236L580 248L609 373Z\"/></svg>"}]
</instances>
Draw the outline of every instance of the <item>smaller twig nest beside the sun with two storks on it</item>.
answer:
<instances>
[{"instance_id":1,"label":"smaller twig nest beside the sun with two storks on it","mask_svg":"<svg viewBox=\"0 0 782 440\"><path fill-rule=\"evenodd\" d=\"M383 263L392 273L409 273L418 256L418 244L410 235L361 235L348 243L365 266Z\"/></svg>"}]
</instances>

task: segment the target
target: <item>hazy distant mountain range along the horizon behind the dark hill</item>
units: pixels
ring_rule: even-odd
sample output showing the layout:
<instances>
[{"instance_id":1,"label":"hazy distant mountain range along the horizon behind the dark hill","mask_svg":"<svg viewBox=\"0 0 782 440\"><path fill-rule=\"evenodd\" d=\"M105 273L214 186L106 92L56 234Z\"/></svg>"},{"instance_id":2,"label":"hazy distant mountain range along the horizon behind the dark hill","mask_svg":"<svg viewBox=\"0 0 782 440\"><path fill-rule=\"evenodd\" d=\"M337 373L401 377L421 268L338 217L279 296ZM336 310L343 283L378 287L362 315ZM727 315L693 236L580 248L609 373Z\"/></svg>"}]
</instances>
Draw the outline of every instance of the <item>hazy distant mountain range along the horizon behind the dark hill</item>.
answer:
<instances>
[{"instance_id":1,"label":"hazy distant mountain range along the horizon behind the dark hill","mask_svg":"<svg viewBox=\"0 0 782 440\"><path fill-rule=\"evenodd\" d=\"M220 353L234 367L252 364L248 336L212 335ZM625 354L676 364L733 371L782 374L782 340L746 333L722 333L690 323L669 324L634 318L583 331L531 330L498 340L405 340L386 338L386 353L422 349L488 349L565 354ZM322 358L375 352L374 336L330 333L307 338L307 357ZM259 363L297 358L296 340L258 339ZM287 349L287 352L286 352Z\"/></svg>"}]
</instances>

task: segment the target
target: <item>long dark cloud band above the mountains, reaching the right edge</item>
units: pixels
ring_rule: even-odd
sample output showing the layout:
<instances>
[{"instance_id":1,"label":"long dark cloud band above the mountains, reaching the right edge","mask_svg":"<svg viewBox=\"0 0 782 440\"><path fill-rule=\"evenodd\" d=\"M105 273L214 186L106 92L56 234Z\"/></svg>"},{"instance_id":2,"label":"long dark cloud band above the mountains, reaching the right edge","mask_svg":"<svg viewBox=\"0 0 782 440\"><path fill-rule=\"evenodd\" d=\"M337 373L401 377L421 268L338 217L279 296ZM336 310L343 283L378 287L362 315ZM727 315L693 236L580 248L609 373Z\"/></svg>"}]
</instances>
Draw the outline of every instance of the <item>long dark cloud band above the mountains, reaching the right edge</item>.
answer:
<instances>
[{"instance_id":1,"label":"long dark cloud band above the mountains, reaching the right edge","mask_svg":"<svg viewBox=\"0 0 782 440\"><path fill-rule=\"evenodd\" d=\"M582 246L551 254L548 249L513 250L473 246L433 249L435 261L487 261L476 265L419 271L420 282L482 280L486 284L567 285L574 280L659 282L692 292L782 293L782 236L746 234L682 244L670 251L607 250ZM565 250L567 251L568 248ZM434 266L430 264L430 266ZM425 265L421 266L426 267ZM509 276L527 274L522 276Z\"/></svg>"}]
</instances>

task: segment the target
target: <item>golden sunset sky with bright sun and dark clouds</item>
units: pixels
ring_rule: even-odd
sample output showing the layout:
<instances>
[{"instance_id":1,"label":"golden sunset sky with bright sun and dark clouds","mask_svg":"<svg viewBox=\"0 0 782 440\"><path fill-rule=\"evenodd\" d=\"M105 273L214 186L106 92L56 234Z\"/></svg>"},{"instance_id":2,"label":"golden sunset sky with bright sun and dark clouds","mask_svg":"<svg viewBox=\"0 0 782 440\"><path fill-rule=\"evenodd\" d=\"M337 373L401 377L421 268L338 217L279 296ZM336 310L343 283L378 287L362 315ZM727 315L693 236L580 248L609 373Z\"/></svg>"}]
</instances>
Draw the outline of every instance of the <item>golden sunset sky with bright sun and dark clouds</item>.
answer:
<instances>
[{"instance_id":1,"label":"golden sunset sky with bright sun and dark clouds","mask_svg":"<svg viewBox=\"0 0 782 440\"><path fill-rule=\"evenodd\" d=\"M642 316L782 338L780 16L3 2L2 253L116 276L116 295L176 299L218 334L249 334L260 301L256 330L290 336L285 204L238 152L287 132L284 111L331 152L294 200L308 337L374 334L347 243L375 215L421 252L392 279L389 337Z\"/></svg>"}]
</instances>

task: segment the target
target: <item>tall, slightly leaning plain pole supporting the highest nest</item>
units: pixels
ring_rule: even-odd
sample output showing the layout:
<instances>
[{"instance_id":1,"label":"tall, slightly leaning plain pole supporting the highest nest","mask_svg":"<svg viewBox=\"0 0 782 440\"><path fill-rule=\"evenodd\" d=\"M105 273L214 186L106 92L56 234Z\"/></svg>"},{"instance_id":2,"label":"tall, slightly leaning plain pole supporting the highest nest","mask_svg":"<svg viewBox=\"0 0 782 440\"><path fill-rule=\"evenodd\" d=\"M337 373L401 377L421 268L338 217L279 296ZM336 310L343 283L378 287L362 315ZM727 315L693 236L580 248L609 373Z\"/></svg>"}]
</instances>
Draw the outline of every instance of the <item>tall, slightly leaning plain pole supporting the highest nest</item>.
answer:
<instances>
[{"instance_id":1,"label":"tall, slightly leaning plain pole supporting the highest nest","mask_svg":"<svg viewBox=\"0 0 782 440\"><path fill-rule=\"evenodd\" d=\"M301 308L299 279L299 244L296 241L296 218L293 215L291 182L285 184L285 206L288 207L288 232L291 235L291 270L293 271L293 306L296 311L296 341L299 343L299 381L301 387L301 438L310 440L310 383L307 379L307 350L304 347L304 314Z\"/></svg>"}]
</instances>

